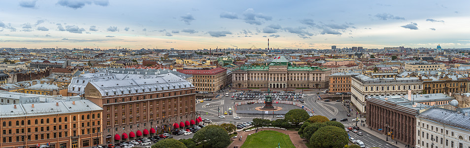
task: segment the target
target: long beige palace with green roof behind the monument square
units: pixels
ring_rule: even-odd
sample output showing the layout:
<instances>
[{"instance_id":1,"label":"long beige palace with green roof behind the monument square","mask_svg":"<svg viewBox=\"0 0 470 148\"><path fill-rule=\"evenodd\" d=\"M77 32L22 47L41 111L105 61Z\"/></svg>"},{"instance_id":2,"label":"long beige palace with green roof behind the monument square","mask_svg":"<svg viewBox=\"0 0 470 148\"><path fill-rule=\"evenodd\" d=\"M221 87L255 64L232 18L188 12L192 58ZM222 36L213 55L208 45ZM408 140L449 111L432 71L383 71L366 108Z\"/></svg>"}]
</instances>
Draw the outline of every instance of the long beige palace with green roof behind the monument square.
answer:
<instances>
[{"instance_id":1,"label":"long beige palace with green roof behind the monument square","mask_svg":"<svg viewBox=\"0 0 470 148\"><path fill-rule=\"evenodd\" d=\"M269 65L242 66L233 73L235 88L326 88L331 69L292 65L276 56Z\"/></svg>"}]
</instances>

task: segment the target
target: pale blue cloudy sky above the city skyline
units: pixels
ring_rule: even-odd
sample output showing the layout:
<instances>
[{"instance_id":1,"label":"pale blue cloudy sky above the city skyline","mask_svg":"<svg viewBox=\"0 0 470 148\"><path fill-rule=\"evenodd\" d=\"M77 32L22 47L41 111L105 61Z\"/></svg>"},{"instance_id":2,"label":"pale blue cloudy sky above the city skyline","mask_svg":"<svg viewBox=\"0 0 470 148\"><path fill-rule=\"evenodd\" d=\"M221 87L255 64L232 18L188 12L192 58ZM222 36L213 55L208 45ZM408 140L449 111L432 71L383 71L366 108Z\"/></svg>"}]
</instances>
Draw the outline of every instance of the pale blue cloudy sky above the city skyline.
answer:
<instances>
[{"instance_id":1,"label":"pale blue cloudy sky above the city skyline","mask_svg":"<svg viewBox=\"0 0 470 148\"><path fill-rule=\"evenodd\" d=\"M470 0L2 0L0 47L470 48Z\"/></svg>"}]
</instances>

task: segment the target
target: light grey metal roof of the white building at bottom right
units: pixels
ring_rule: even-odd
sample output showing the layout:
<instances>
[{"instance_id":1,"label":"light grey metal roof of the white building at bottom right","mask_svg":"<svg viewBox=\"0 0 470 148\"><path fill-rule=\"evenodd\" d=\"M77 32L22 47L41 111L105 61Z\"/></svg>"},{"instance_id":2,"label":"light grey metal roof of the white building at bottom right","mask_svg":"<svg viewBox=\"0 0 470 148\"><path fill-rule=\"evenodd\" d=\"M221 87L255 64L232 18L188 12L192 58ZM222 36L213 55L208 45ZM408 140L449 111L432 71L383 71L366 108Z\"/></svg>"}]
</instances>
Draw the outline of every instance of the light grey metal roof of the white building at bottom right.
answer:
<instances>
[{"instance_id":1,"label":"light grey metal roof of the white building at bottom right","mask_svg":"<svg viewBox=\"0 0 470 148\"><path fill-rule=\"evenodd\" d=\"M441 108L432 108L418 115L446 125L470 131L470 116Z\"/></svg>"}]
</instances>

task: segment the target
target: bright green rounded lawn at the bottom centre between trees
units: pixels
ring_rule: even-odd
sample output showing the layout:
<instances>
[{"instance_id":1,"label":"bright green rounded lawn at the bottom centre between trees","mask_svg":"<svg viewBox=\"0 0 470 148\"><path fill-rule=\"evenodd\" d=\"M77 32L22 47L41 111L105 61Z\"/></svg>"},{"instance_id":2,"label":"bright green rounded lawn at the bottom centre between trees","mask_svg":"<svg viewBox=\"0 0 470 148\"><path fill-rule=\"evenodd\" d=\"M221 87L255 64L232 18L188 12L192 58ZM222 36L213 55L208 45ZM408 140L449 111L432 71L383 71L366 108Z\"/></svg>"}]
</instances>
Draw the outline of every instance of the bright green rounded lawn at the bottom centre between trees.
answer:
<instances>
[{"instance_id":1,"label":"bright green rounded lawn at the bottom centre between trees","mask_svg":"<svg viewBox=\"0 0 470 148\"><path fill-rule=\"evenodd\" d=\"M251 134L240 148L277 148L280 143L281 148L295 148L289 135L277 131L260 131Z\"/></svg>"}]
</instances>

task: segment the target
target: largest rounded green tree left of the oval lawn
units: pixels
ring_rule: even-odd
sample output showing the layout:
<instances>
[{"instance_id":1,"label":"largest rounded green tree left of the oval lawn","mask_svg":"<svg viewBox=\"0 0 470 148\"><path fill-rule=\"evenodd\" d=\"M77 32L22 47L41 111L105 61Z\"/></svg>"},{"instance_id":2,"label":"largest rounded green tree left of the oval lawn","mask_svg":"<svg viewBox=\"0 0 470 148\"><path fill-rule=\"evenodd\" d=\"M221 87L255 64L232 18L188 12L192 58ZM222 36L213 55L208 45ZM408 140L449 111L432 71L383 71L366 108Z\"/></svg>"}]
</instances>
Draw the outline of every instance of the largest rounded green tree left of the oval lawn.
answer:
<instances>
[{"instance_id":1,"label":"largest rounded green tree left of the oval lawn","mask_svg":"<svg viewBox=\"0 0 470 148\"><path fill-rule=\"evenodd\" d=\"M196 144L208 144L210 148L226 148L230 144L227 130L218 125L208 125L193 136Z\"/></svg>"}]
</instances>

